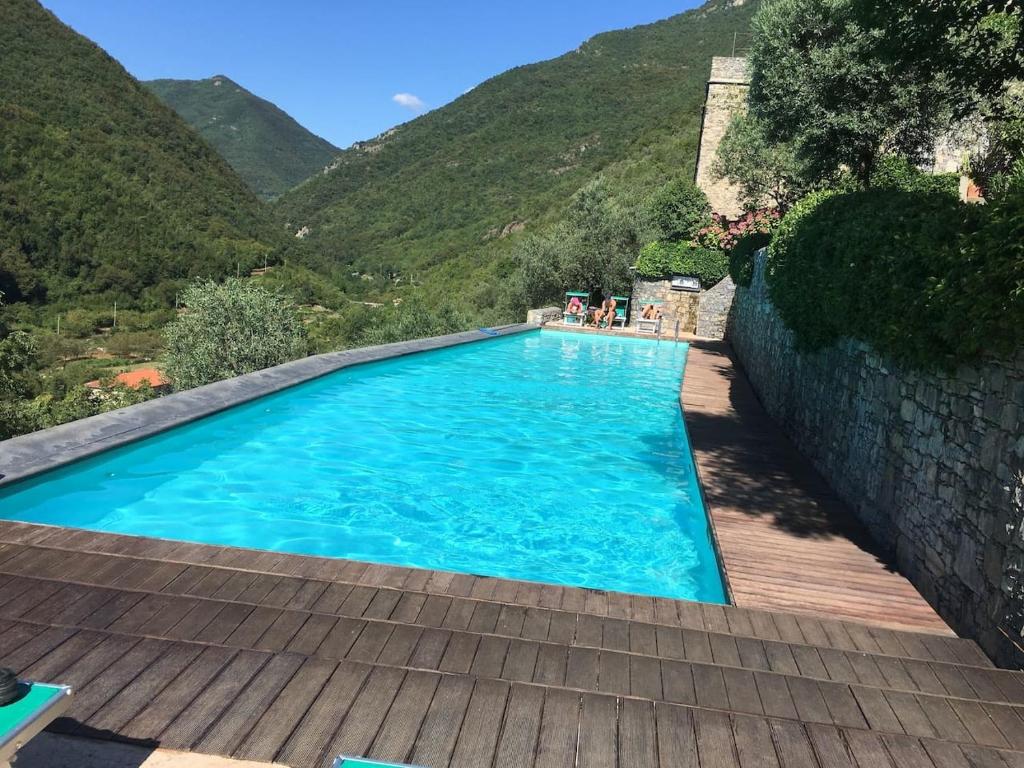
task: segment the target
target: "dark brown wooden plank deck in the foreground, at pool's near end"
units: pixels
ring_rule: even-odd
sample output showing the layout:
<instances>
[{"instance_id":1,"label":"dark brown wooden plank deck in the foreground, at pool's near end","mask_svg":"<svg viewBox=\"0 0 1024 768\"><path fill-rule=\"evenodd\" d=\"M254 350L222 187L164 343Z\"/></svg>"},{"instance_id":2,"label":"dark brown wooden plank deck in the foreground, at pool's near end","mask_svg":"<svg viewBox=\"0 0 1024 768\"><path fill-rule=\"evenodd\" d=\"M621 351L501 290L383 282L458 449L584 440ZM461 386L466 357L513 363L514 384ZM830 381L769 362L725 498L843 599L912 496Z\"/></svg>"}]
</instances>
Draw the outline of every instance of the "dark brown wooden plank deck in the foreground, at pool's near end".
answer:
<instances>
[{"instance_id":1,"label":"dark brown wooden plank deck in the foreground, at pool's near end","mask_svg":"<svg viewBox=\"0 0 1024 768\"><path fill-rule=\"evenodd\" d=\"M1024 675L955 637L24 523L0 658L62 731L295 768L1024 767Z\"/></svg>"}]
</instances>

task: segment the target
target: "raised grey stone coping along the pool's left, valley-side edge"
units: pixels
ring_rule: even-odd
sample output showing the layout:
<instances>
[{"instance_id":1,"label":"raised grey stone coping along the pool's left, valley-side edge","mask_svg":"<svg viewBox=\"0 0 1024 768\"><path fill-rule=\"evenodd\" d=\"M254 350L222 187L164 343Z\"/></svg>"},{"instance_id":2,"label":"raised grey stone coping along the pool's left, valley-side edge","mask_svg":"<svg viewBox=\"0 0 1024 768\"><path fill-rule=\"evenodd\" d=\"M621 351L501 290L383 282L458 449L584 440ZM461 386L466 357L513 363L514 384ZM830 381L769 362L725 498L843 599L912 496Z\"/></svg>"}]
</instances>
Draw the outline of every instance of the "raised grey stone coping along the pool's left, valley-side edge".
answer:
<instances>
[{"instance_id":1,"label":"raised grey stone coping along the pool's left, valley-side edge","mask_svg":"<svg viewBox=\"0 0 1024 768\"><path fill-rule=\"evenodd\" d=\"M345 368L539 331L517 323L300 357L0 441L0 487L199 421Z\"/></svg>"}]
</instances>

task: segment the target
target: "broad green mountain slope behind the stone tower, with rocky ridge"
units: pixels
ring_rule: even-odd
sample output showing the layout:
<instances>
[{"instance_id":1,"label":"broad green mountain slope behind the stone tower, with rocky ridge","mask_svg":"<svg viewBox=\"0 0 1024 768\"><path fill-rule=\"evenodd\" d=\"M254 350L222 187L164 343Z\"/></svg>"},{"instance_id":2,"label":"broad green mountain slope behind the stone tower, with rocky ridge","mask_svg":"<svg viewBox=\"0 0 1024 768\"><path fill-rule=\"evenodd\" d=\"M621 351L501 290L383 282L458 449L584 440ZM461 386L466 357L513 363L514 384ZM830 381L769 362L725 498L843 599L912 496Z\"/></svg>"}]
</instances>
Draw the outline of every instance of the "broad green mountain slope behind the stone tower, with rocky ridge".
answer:
<instances>
[{"instance_id":1,"label":"broad green mountain slope behind the stone tower, with rocky ridge","mask_svg":"<svg viewBox=\"0 0 1024 768\"><path fill-rule=\"evenodd\" d=\"M490 269L598 174L631 201L692 175L711 57L730 54L756 5L711 0L510 70L354 144L272 208L346 267Z\"/></svg>"}]
</instances>

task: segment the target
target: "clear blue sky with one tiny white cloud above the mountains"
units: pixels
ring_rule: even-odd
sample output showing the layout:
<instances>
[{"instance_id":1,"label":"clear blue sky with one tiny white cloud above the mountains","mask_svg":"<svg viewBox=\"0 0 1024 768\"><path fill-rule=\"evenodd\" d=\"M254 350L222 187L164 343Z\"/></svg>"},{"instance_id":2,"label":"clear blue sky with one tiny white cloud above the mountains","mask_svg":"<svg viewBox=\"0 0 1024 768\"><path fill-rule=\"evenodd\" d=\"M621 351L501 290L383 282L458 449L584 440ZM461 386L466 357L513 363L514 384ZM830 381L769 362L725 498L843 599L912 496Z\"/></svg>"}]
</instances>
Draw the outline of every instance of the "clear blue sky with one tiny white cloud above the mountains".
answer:
<instances>
[{"instance_id":1,"label":"clear blue sky with one tiny white cloud above the mountains","mask_svg":"<svg viewBox=\"0 0 1024 768\"><path fill-rule=\"evenodd\" d=\"M700 4L700 0L42 2L140 80L226 75L342 147L451 101L507 69L571 50L599 32L654 22Z\"/></svg>"}]
</instances>

